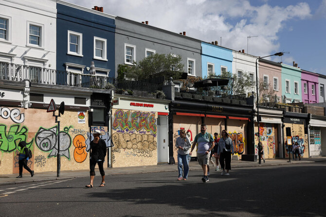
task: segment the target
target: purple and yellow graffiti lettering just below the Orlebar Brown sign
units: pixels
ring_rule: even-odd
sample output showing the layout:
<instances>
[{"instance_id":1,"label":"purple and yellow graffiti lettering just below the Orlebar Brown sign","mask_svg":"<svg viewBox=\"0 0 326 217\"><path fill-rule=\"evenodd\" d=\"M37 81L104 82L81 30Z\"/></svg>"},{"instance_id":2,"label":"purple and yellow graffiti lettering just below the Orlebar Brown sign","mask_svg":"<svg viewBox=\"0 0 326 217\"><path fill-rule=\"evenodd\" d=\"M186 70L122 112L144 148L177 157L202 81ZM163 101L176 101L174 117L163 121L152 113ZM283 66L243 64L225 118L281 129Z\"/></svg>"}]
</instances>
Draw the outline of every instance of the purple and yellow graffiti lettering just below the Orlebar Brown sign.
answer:
<instances>
[{"instance_id":1,"label":"purple and yellow graffiti lettering just below the Orlebar Brown sign","mask_svg":"<svg viewBox=\"0 0 326 217\"><path fill-rule=\"evenodd\" d=\"M140 134L157 133L157 123L155 113L140 112L140 111L123 111L118 109L113 116L113 130L120 130L121 133L135 131Z\"/></svg>"}]
</instances>

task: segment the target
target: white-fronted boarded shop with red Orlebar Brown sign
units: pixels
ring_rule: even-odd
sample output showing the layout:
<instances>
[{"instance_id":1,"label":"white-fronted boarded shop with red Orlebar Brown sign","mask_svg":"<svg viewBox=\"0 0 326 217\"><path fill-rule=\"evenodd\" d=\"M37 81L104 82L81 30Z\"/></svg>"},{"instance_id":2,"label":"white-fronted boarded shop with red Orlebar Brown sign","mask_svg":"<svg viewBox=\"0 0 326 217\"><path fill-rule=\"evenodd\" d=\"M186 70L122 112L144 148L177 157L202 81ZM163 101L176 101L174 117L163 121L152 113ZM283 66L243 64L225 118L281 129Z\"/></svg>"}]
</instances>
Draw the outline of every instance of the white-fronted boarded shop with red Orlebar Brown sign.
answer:
<instances>
[{"instance_id":1,"label":"white-fronted boarded shop with red Orlebar Brown sign","mask_svg":"<svg viewBox=\"0 0 326 217\"><path fill-rule=\"evenodd\" d=\"M112 167L157 165L161 155L166 155L167 162L168 146L166 149L161 146L168 143L169 102L115 95L112 100ZM160 132L161 125L166 132Z\"/></svg>"}]
</instances>

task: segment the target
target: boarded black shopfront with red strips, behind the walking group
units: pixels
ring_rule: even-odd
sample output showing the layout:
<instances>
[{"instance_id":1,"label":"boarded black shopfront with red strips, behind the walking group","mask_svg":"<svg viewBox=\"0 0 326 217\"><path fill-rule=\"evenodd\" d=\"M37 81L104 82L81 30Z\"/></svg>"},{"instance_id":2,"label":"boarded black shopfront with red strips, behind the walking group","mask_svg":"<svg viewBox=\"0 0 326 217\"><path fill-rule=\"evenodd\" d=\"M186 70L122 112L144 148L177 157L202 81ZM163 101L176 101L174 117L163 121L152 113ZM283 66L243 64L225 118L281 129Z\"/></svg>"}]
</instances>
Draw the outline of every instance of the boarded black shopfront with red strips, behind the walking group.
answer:
<instances>
[{"instance_id":1,"label":"boarded black shopfront with red strips, behind the walking group","mask_svg":"<svg viewBox=\"0 0 326 217\"><path fill-rule=\"evenodd\" d=\"M230 103L229 105L181 100L172 103L172 114L170 116L173 117L171 120L173 122L173 153L170 152L170 154L173 160L177 159L175 142L180 135L179 131L184 129L191 142L193 142L196 134L200 133L200 124L202 123L207 125L206 132L212 135L217 133L218 136L221 136L221 131L227 130L233 140L235 155L239 155L239 159L241 159L241 154L246 153L247 127L252 108L235 107L231 106ZM196 156L196 151L193 151L192 157Z\"/></svg>"}]
</instances>

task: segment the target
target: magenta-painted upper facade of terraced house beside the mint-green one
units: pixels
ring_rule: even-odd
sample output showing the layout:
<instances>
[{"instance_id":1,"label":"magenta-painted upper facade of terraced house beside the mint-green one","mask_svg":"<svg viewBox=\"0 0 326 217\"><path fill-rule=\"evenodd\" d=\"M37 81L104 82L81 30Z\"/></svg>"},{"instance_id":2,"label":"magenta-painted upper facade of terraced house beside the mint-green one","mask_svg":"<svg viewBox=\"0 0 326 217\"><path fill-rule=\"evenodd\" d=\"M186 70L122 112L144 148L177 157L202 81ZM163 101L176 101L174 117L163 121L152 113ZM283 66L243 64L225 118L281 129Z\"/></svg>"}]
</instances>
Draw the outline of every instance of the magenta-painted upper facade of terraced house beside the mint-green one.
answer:
<instances>
[{"instance_id":1,"label":"magenta-painted upper facade of terraced house beside the mint-green one","mask_svg":"<svg viewBox=\"0 0 326 217\"><path fill-rule=\"evenodd\" d=\"M302 101L304 103L319 102L318 75L309 71L301 71Z\"/></svg>"}]
</instances>

